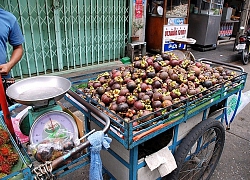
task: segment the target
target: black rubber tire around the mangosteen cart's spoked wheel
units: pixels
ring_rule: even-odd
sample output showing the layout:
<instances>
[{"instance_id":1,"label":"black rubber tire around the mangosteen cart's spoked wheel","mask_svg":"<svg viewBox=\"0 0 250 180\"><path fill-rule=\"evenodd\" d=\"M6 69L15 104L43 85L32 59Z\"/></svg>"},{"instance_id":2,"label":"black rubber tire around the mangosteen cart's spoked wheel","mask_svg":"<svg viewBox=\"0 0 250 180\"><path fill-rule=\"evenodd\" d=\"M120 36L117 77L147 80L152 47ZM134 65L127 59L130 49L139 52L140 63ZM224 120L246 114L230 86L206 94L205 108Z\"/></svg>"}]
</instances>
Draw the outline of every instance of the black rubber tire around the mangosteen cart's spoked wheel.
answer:
<instances>
[{"instance_id":1,"label":"black rubber tire around the mangosteen cart's spoked wheel","mask_svg":"<svg viewBox=\"0 0 250 180\"><path fill-rule=\"evenodd\" d=\"M163 179L166 179L166 180L177 180L177 179L179 179L182 167L184 165L186 165L186 163L189 162L189 161L185 161L189 151L196 144L196 142L200 139L200 137L205 135L206 132L208 132L208 131L212 132L210 130L214 130L214 132L216 133L216 137L217 137L217 141L216 141L216 143L214 145L214 148L212 150L213 151L213 153L212 153L213 156L209 159L209 163L207 164L207 168L205 169L206 171L203 171L201 173L201 175L199 175L199 177L188 178L188 179L193 179L193 180L198 180L198 179L202 179L202 180L206 179L206 180L208 180L208 179L210 179L210 177L212 176L212 174L213 174L213 172L214 172L214 170L215 170L215 168L216 168L216 166L217 166L217 164L219 162L219 159L221 157L221 153L222 153L223 148L224 148L224 143L225 143L225 129L224 129L222 123L220 121L212 119L212 118L209 118L209 119L204 120L204 121L200 122L199 124L197 124L186 135L186 137L184 137L184 139L182 140L182 142L181 142L180 146L178 147L176 153L174 154L174 157L175 157L175 160L176 160L176 163L177 163L177 169L175 169L171 174L167 175ZM213 134L213 135L215 135L215 134ZM207 147L209 147L210 145L211 144L209 144ZM216 153L215 153L215 150L217 151ZM198 152L198 155L199 155L199 153L201 153L201 151ZM197 158L197 159L199 160L199 158ZM200 162L202 162L202 161L200 161ZM199 164L198 162L195 162L195 163L192 162L192 165L193 164L195 164L195 165ZM203 166L204 166L204 163L202 163L201 167L203 167ZM189 169L187 169L187 170L189 170Z\"/></svg>"}]
</instances>

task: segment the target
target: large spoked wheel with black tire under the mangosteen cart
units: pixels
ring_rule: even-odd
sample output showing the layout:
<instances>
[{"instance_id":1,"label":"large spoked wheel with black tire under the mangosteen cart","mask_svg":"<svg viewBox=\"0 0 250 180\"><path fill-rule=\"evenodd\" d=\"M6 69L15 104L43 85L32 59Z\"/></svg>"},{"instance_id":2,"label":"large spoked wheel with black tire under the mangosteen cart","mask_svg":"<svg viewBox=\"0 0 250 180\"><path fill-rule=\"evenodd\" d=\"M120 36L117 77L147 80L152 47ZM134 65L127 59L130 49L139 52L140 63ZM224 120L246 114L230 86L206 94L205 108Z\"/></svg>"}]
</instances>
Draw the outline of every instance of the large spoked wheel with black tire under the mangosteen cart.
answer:
<instances>
[{"instance_id":1,"label":"large spoked wheel with black tire under the mangosteen cart","mask_svg":"<svg viewBox=\"0 0 250 180\"><path fill-rule=\"evenodd\" d=\"M174 154L177 169L166 179L208 180L218 164L224 142L225 129L220 121L209 118L200 122L182 140Z\"/></svg>"}]
</instances>

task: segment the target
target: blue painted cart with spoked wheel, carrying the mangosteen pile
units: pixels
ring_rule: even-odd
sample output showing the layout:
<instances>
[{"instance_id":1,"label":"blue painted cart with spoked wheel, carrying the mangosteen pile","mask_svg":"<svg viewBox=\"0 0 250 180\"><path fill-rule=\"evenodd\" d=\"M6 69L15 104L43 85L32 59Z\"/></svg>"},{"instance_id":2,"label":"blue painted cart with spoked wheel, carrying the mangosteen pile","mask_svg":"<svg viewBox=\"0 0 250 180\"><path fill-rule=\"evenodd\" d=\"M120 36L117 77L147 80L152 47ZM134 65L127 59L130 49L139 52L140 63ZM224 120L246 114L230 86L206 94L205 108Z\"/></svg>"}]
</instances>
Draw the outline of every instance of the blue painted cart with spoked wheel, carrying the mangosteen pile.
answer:
<instances>
[{"instance_id":1,"label":"blue painted cart with spoked wheel, carrying the mangosteen pile","mask_svg":"<svg viewBox=\"0 0 250 180\"><path fill-rule=\"evenodd\" d=\"M101 128L105 123L90 116L87 109L79 102L86 101L106 112L111 118L109 136L113 141L108 152L102 154L103 169L109 177L119 180L161 179L157 169L149 170L145 157L164 147L168 147L174 155L177 169L163 179L200 179L201 177L209 179L211 177L224 146L223 122L226 122L229 128L234 118L231 120L225 118L227 98L241 93L247 74L238 66L207 59L199 61L212 67L223 66L235 71L237 75L233 79L209 88L202 96L196 94L174 104L175 108L169 112L160 110L134 120L143 122L136 126L133 126L134 121L126 122L77 88L79 84L94 80L103 72L70 78L73 92L68 93L66 100L84 114L87 130ZM235 113L236 111L237 108ZM157 115L159 113L160 115ZM147 121L145 121L146 118Z\"/></svg>"}]
</instances>

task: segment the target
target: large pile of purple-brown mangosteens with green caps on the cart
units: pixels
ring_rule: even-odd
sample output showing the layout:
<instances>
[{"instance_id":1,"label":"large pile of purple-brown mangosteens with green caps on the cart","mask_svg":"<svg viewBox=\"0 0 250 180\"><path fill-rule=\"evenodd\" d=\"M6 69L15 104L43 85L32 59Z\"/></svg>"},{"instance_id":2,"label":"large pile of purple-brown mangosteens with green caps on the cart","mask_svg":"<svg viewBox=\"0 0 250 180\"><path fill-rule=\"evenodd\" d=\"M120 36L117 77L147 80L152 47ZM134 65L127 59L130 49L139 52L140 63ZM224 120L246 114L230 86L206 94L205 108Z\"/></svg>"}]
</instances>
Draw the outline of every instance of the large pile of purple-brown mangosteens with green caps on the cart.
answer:
<instances>
[{"instance_id":1,"label":"large pile of purple-brown mangosteens with green caps on the cart","mask_svg":"<svg viewBox=\"0 0 250 180\"><path fill-rule=\"evenodd\" d=\"M135 119L152 114L145 122L161 115L153 112L171 111L176 107L174 104L190 97L200 98L202 92L235 76L234 71L223 66L211 67L165 52L135 57L131 65L99 74L79 90L125 122L137 125Z\"/></svg>"}]
</instances>

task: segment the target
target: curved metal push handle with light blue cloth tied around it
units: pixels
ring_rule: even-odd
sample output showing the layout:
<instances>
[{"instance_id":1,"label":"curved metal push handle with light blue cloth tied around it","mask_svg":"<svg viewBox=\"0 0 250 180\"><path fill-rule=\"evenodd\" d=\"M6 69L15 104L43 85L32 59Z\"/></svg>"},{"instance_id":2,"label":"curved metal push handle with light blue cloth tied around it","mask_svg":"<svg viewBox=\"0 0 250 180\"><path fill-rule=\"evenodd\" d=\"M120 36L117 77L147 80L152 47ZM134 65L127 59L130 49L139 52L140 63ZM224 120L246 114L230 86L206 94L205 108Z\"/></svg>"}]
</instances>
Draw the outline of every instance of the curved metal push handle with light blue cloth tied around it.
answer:
<instances>
[{"instance_id":1,"label":"curved metal push handle with light blue cloth tied around it","mask_svg":"<svg viewBox=\"0 0 250 180\"><path fill-rule=\"evenodd\" d=\"M110 128L110 118L107 115L105 115L105 114L101 113L100 111L98 111L97 109L95 109L91 104L87 103L84 99L82 99L80 96L78 96L73 91L69 90L67 93L70 96L72 96L74 99L76 99L80 104L85 106L86 109L88 111L90 111L93 115L101 118L103 121L106 122L105 127L102 130L103 133L106 134L108 132L109 128ZM77 153L81 152L83 149L87 148L88 146L90 146L90 142L88 140L86 140L85 142L83 142L79 146L77 146L77 147L73 148L72 150L70 150L67 154L53 160L52 161L52 169L57 168L67 158L76 155Z\"/></svg>"}]
</instances>

